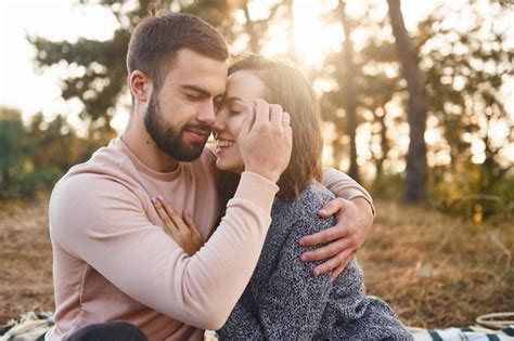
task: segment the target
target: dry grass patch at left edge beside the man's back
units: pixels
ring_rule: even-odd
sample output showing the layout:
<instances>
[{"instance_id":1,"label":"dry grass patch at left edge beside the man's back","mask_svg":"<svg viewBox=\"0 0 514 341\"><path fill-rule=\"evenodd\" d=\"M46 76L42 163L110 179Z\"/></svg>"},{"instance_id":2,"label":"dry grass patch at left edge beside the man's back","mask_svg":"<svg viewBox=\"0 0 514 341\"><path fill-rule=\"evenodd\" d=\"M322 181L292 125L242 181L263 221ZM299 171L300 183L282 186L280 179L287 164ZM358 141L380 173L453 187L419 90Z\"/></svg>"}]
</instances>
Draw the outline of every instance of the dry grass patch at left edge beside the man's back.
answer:
<instances>
[{"instance_id":1,"label":"dry grass patch at left edge beside the man's back","mask_svg":"<svg viewBox=\"0 0 514 341\"><path fill-rule=\"evenodd\" d=\"M52 311L47 201L0 208L0 326L26 311Z\"/></svg>"}]
</instances>

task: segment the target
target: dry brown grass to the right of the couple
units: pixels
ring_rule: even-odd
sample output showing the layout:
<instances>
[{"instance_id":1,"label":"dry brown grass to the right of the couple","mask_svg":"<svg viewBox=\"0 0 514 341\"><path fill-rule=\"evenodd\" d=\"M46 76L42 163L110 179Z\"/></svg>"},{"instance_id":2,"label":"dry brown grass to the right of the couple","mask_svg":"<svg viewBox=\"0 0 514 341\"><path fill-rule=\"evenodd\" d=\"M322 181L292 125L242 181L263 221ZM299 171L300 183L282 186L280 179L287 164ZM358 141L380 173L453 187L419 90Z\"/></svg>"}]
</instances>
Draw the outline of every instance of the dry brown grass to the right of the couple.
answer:
<instances>
[{"instance_id":1,"label":"dry brown grass to the right of the couple","mask_svg":"<svg viewBox=\"0 0 514 341\"><path fill-rule=\"evenodd\" d=\"M380 202L359 254L368 293L384 298L409 326L474 325L514 311L512 223L476 225L429 209Z\"/></svg>"}]
</instances>

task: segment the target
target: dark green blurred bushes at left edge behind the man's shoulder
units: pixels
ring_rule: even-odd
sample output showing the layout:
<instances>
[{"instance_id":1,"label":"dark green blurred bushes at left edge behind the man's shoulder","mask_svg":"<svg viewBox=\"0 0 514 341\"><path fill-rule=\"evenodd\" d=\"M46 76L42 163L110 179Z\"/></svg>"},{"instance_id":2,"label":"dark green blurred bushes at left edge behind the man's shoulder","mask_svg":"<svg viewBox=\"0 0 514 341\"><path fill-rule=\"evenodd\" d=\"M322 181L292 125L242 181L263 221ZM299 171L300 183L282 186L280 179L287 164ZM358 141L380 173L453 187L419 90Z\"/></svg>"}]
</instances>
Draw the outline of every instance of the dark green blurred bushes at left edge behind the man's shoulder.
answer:
<instances>
[{"instance_id":1,"label":"dark green blurred bushes at left edge behind the man's shoulder","mask_svg":"<svg viewBox=\"0 0 514 341\"><path fill-rule=\"evenodd\" d=\"M24 127L20 112L0 107L0 200L34 198L104 143L79 139L62 116Z\"/></svg>"}]
</instances>

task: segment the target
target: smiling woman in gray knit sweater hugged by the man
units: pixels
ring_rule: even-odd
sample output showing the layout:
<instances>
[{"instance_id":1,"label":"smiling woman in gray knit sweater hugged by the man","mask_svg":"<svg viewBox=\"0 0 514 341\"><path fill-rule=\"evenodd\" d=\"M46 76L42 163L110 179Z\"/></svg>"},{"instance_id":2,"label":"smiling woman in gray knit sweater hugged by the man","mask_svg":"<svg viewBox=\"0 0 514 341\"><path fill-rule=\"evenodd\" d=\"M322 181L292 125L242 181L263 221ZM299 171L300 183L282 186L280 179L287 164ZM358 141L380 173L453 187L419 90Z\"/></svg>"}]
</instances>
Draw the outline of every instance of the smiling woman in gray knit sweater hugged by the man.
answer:
<instances>
[{"instance_id":1,"label":"smiling woman in gray knit sweater hugged by the man","mask_svg":"<svg viewBox=\"0 0 514 341\"><path fill-rule=\"evenodd\" d=\"M272 223L257 267L218 330L220 339L411 340L385 302L365 297L362 271L355 259L334 281L330 274L313 277L317 264L299 260L305 248L298 239L334 224L318 215L334 196L319 183L322 134L316 95L293 65L250 55L230 67L226 100L215 124L221 199L227 204L232 197L237 174L244 170L237 135L248 106L257 99L278 103L290 113L293 152L279 180ZM165 210L158 211L166 220ZM184 220L175 229L189 228L195 235L193 220ZM190 254L201 247L193 240L197 238L185 239L177 241Z\"/></svg>"}]
</instances>

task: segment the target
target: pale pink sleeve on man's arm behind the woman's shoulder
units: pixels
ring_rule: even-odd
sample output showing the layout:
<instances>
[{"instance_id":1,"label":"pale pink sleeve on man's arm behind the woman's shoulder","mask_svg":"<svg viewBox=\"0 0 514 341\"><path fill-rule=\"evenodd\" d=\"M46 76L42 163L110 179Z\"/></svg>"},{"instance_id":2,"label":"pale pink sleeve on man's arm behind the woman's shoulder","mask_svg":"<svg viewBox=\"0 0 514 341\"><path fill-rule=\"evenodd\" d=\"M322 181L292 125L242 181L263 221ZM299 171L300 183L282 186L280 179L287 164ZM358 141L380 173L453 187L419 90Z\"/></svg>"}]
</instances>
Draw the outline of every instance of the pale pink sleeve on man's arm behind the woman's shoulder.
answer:
<instances>
[{"instance_id":1,"label":"pale pink sleeve on man's arm behind the woman's shoulder","mask_svg":"<svg viewBox=\"0 0 514 341\"><path fill-rule=\"evenodd\" d=\"M375 215L375 207L373 198L357 181L347 174L334 169L325 168L323 170L323 186L329 188L333 194L339 198L351 200L355 198L363 198L370 204L373 215Z\"/></svg>"}]
</instances>

